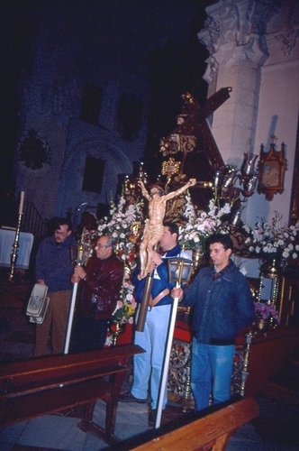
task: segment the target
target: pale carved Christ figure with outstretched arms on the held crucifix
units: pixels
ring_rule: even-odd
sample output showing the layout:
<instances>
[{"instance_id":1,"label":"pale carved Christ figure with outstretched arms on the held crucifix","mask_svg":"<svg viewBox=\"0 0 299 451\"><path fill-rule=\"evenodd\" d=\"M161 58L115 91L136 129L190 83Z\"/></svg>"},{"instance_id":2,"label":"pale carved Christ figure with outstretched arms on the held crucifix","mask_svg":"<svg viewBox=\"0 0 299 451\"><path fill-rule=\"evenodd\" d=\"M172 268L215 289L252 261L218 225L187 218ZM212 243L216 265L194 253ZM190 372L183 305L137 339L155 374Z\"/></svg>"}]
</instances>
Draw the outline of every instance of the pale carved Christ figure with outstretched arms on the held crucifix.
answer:
<instances>
[{"instance_id":1,"label":"pale carved Christ figure with outstretched arms on the held crucifix","mask_svg":"<svg viewBox=\"0 0 299 451\"><path fill-rule=\"evenodd\" d=\"M195 183L196 179L190 179L184 187L168 194L163 194L163 189L158 186L154 186L150 189L149 194L148 190L144 186L144 183L141 180L139 181L142 196L149 201L149 218L145 221L144 232L140 244L140 279L146 277L146 275L150 272L154 247L159 243L161 237L163 236L163 219L166 212L167 201L171 198L179 196L186 189L194 186Z\"/></svg>"}]
</instances>

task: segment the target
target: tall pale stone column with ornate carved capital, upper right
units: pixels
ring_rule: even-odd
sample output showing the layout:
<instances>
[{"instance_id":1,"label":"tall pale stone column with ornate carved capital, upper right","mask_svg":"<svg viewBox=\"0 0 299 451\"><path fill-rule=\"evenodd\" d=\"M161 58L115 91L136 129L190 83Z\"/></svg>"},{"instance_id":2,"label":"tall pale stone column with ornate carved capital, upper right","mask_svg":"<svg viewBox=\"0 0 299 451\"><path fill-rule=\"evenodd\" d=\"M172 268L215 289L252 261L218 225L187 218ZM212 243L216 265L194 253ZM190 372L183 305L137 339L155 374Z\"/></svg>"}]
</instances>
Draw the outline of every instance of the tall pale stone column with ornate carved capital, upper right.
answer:
<instances>
[{"instance_id":1,"label":"tall pale stone column with ornate carved capital, upper right","mask_svg":"<svg viewBox=\"0 0 299 451\"><path fill-rule=\"evenodd\" d=\"M261 67L268 58L267 21L276 14L276 1L220 1L206 9L199 40L210 51L204 79L208 96L231 87L231 98L213 115L213 135L223 160L240 167L243 152L254 149Z\"/></svg>"}]
</instances>

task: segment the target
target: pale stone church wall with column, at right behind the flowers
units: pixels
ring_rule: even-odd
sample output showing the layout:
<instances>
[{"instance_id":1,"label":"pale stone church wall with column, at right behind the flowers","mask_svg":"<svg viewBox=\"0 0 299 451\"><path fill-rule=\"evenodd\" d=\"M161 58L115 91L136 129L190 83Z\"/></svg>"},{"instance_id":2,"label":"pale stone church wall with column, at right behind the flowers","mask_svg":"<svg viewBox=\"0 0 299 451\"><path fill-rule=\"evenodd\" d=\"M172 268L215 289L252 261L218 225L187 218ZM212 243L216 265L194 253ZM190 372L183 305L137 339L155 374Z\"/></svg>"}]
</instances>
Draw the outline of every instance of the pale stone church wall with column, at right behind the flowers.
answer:
<instances>
[{"instance_id":1,"label":"pale stone church wall with column, at right behind the flowers","mask_svg":"<svg viewBox=\"0 0 299 451\"><path fill-rule=\"evenodd\" d=\"M212 118L224 162L240 168L242 152L259 154L261 143L268 151L272 134L277 151L285 143L284 191L272 201L258 192L249 198L241 219L250 226L261 218L270 222L275 211L282 223L289 221L299 112L298 9L291 1L220 0L206 8L209 19L198 33L210 51L208 97L232 87L231 98ZM258 277L258 262L245 263L249 277Z\"/></svg>"}]
</instances>

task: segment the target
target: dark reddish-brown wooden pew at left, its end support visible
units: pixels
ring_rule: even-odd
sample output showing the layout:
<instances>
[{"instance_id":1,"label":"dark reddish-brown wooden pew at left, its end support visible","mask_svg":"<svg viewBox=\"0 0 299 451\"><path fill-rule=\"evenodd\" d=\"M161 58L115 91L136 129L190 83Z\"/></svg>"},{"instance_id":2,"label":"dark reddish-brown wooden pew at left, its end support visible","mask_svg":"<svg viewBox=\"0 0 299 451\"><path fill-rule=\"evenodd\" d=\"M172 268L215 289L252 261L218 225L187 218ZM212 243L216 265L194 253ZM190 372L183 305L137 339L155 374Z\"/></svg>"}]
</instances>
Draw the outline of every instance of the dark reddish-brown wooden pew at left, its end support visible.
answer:
<instances>
[{"instance_id":1,"label":"dark reddish-brown wooden pew at left, its end support visible","mask_svg":"<svg viewBox=\"0 0 299 451\"><path fill-rule=\"evenodd\" d=\"M78 427L106 443L113 436L117 400L138 345L121 345L83 354L50 356L0 368L0 427L41 415L85 406ZM106 402L105 428L93 423L96 400Z\"/></svg>"}]
</instances>

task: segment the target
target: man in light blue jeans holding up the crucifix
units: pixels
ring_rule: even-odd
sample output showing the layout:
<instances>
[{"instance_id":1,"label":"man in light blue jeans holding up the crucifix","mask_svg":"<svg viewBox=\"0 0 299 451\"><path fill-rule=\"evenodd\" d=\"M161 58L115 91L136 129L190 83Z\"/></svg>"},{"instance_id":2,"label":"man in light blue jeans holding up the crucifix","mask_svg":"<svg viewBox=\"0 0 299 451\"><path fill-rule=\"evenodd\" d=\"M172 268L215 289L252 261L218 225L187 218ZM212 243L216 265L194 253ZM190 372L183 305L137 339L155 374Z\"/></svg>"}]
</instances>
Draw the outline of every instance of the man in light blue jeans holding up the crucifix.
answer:
<instances>
[{"instance_id":1,"label":"man in light blue jeans holding up the crucifix","mask_svg":"<svg viewBox=\"0 0 299 451\"><path fill-rule=\"evenodd\" d=\"M162 373L164 350L168 335L168 322L173 299L169 291L174 283L168 281L168 258L182 256L181 247L177 244L178 227L174 223L164 224L164 233L159 245L161 253L154 252L150 270L154 271L151 289L150 309L147 312L143 332L135 332L135 345L145 349L145 354L134 355L133 384L131 391L122 393L119 400L122 402L146 402L150 388L151 410L149 424L155 422L156 409L159 396L159 382ZM140 270L139 270L140 271ZM136 298L140 302L144 290L145 279L138 279L135 273ZM168 401L167 391L164 393L163 409Z\"/></svg>"}]
</instances>

